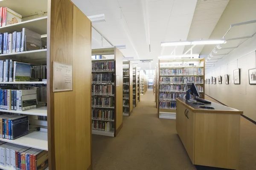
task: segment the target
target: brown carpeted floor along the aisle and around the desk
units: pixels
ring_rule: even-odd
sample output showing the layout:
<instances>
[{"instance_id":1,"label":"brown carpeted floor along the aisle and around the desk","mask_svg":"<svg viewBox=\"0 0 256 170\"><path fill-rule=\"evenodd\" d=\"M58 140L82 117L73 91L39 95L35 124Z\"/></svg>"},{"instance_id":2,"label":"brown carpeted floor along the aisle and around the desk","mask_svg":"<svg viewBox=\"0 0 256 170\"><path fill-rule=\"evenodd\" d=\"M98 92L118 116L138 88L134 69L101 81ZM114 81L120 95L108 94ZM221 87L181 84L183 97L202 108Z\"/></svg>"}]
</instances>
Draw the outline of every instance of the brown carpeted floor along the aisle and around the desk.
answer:
<instances>
[{"instance_id":1,"label":"brown carpeted floor along the aisle and around the desk","mask_svg":"<svg viewBox=\"0 0 256 170\"><path fill-rule=\"evenodd\" d=\"M93 170L196 170L176 133L175 120L157 117L152 89L141 95L132 115L124 117L115 138L93 135L92 141ZM256 170L256 125L244 118L240 157L240 170Z\"/></svg>"}]
</instances>

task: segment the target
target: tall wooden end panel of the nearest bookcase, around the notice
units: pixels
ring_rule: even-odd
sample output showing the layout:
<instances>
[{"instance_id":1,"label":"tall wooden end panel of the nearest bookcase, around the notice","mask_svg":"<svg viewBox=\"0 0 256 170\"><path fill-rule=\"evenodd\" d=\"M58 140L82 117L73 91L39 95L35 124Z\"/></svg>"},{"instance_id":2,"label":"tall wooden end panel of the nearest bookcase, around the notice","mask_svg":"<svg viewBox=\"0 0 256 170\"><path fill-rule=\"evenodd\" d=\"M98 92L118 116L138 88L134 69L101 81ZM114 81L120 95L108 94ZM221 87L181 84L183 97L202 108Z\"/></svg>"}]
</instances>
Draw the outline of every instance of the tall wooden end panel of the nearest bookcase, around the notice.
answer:
<instances>
[{"instance_id":1,"label":"tall wooden end panel of the nearest bookcase, around the notice","mask_svg":"<svg viewBox=\"0 0 256 170\"><path fill-rule=\"evenodd\" d=\"M48 5L49 169L87 169L91 166L91 22L68 0L49 0ZM52 61L73 65L73 91L52 92Z\"/></svg>"}]
</instances>

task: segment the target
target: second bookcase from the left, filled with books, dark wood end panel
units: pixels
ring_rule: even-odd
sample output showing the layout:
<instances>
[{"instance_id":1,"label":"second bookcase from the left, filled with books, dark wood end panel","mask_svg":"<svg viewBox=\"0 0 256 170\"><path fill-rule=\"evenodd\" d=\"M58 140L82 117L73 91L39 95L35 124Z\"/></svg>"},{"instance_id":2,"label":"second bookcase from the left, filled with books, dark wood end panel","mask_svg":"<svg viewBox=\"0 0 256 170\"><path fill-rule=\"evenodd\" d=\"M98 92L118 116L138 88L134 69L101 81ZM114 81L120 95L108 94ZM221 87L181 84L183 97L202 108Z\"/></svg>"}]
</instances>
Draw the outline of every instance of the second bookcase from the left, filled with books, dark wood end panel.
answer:
<instances>
[{"instance_id":1,"label":"second bookcase from the left, filled with books, dark wood end panel","mask_svg":"<svg viewBox=\"0 0 256 170\"><path fill-rule=\"evenodd\" d=\"M92 55L114 55L113 59L92 60L92 134L115 137L122 128L122 53L109 47L92 49ZM104 67L97 69L99 66Z\"/></svg>"}]
</instances>

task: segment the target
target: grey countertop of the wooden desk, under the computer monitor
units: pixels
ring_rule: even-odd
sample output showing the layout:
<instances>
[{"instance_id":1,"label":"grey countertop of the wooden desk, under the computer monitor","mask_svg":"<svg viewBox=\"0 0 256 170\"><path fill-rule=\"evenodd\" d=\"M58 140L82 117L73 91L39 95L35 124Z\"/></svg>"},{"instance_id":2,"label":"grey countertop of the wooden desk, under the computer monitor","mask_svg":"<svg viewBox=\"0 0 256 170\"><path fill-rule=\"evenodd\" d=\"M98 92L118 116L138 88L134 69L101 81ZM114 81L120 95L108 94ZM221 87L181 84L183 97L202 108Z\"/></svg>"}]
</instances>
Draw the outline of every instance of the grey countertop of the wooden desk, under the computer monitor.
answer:
<instances>
[{"instance_id":1,"label":"grey countertop of the wooden desk, under the computer monitor","mask_svg":"<svg viewBox=\"0 0 256 170\"><path fill-rule=\"evenodd\" d=\"M212 113L233 113L233 114L243 114L243 111L234 109L231 107L224 106L222 104L214 103L212 102L211 104L204 104L204 105L195 105L192 104L193 102L188 102L184 98L176 98L177 102L181 102L183 105L186 107L189 107L195 112L212 112ZM199 101L195 101L197 103L201 103ZM214 107L215 109L203 109L200 108L199 106L211 106Z\"/></svg>"}]
</instances>

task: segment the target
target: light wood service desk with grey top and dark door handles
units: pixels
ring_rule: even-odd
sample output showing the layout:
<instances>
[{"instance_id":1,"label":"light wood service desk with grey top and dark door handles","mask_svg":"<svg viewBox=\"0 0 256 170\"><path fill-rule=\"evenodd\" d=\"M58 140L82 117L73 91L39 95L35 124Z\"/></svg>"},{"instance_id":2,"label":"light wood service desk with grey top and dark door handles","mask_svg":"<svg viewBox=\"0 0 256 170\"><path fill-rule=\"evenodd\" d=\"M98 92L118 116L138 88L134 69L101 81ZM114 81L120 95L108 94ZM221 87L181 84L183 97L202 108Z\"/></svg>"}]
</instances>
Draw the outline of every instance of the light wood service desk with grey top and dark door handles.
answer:
<instances>
[{"instance_id":1,"label":"light wood service desk with grey top and dark door handles","mask_svg":"<svg viewBox=\"0 0 256 170\"><path fill-rule=\"evenodd\" d=\"M183 98L176 101L176 130L192 163L238 170L243 112L214 102L195 105Z\"/></svg>"}]
</instances>

